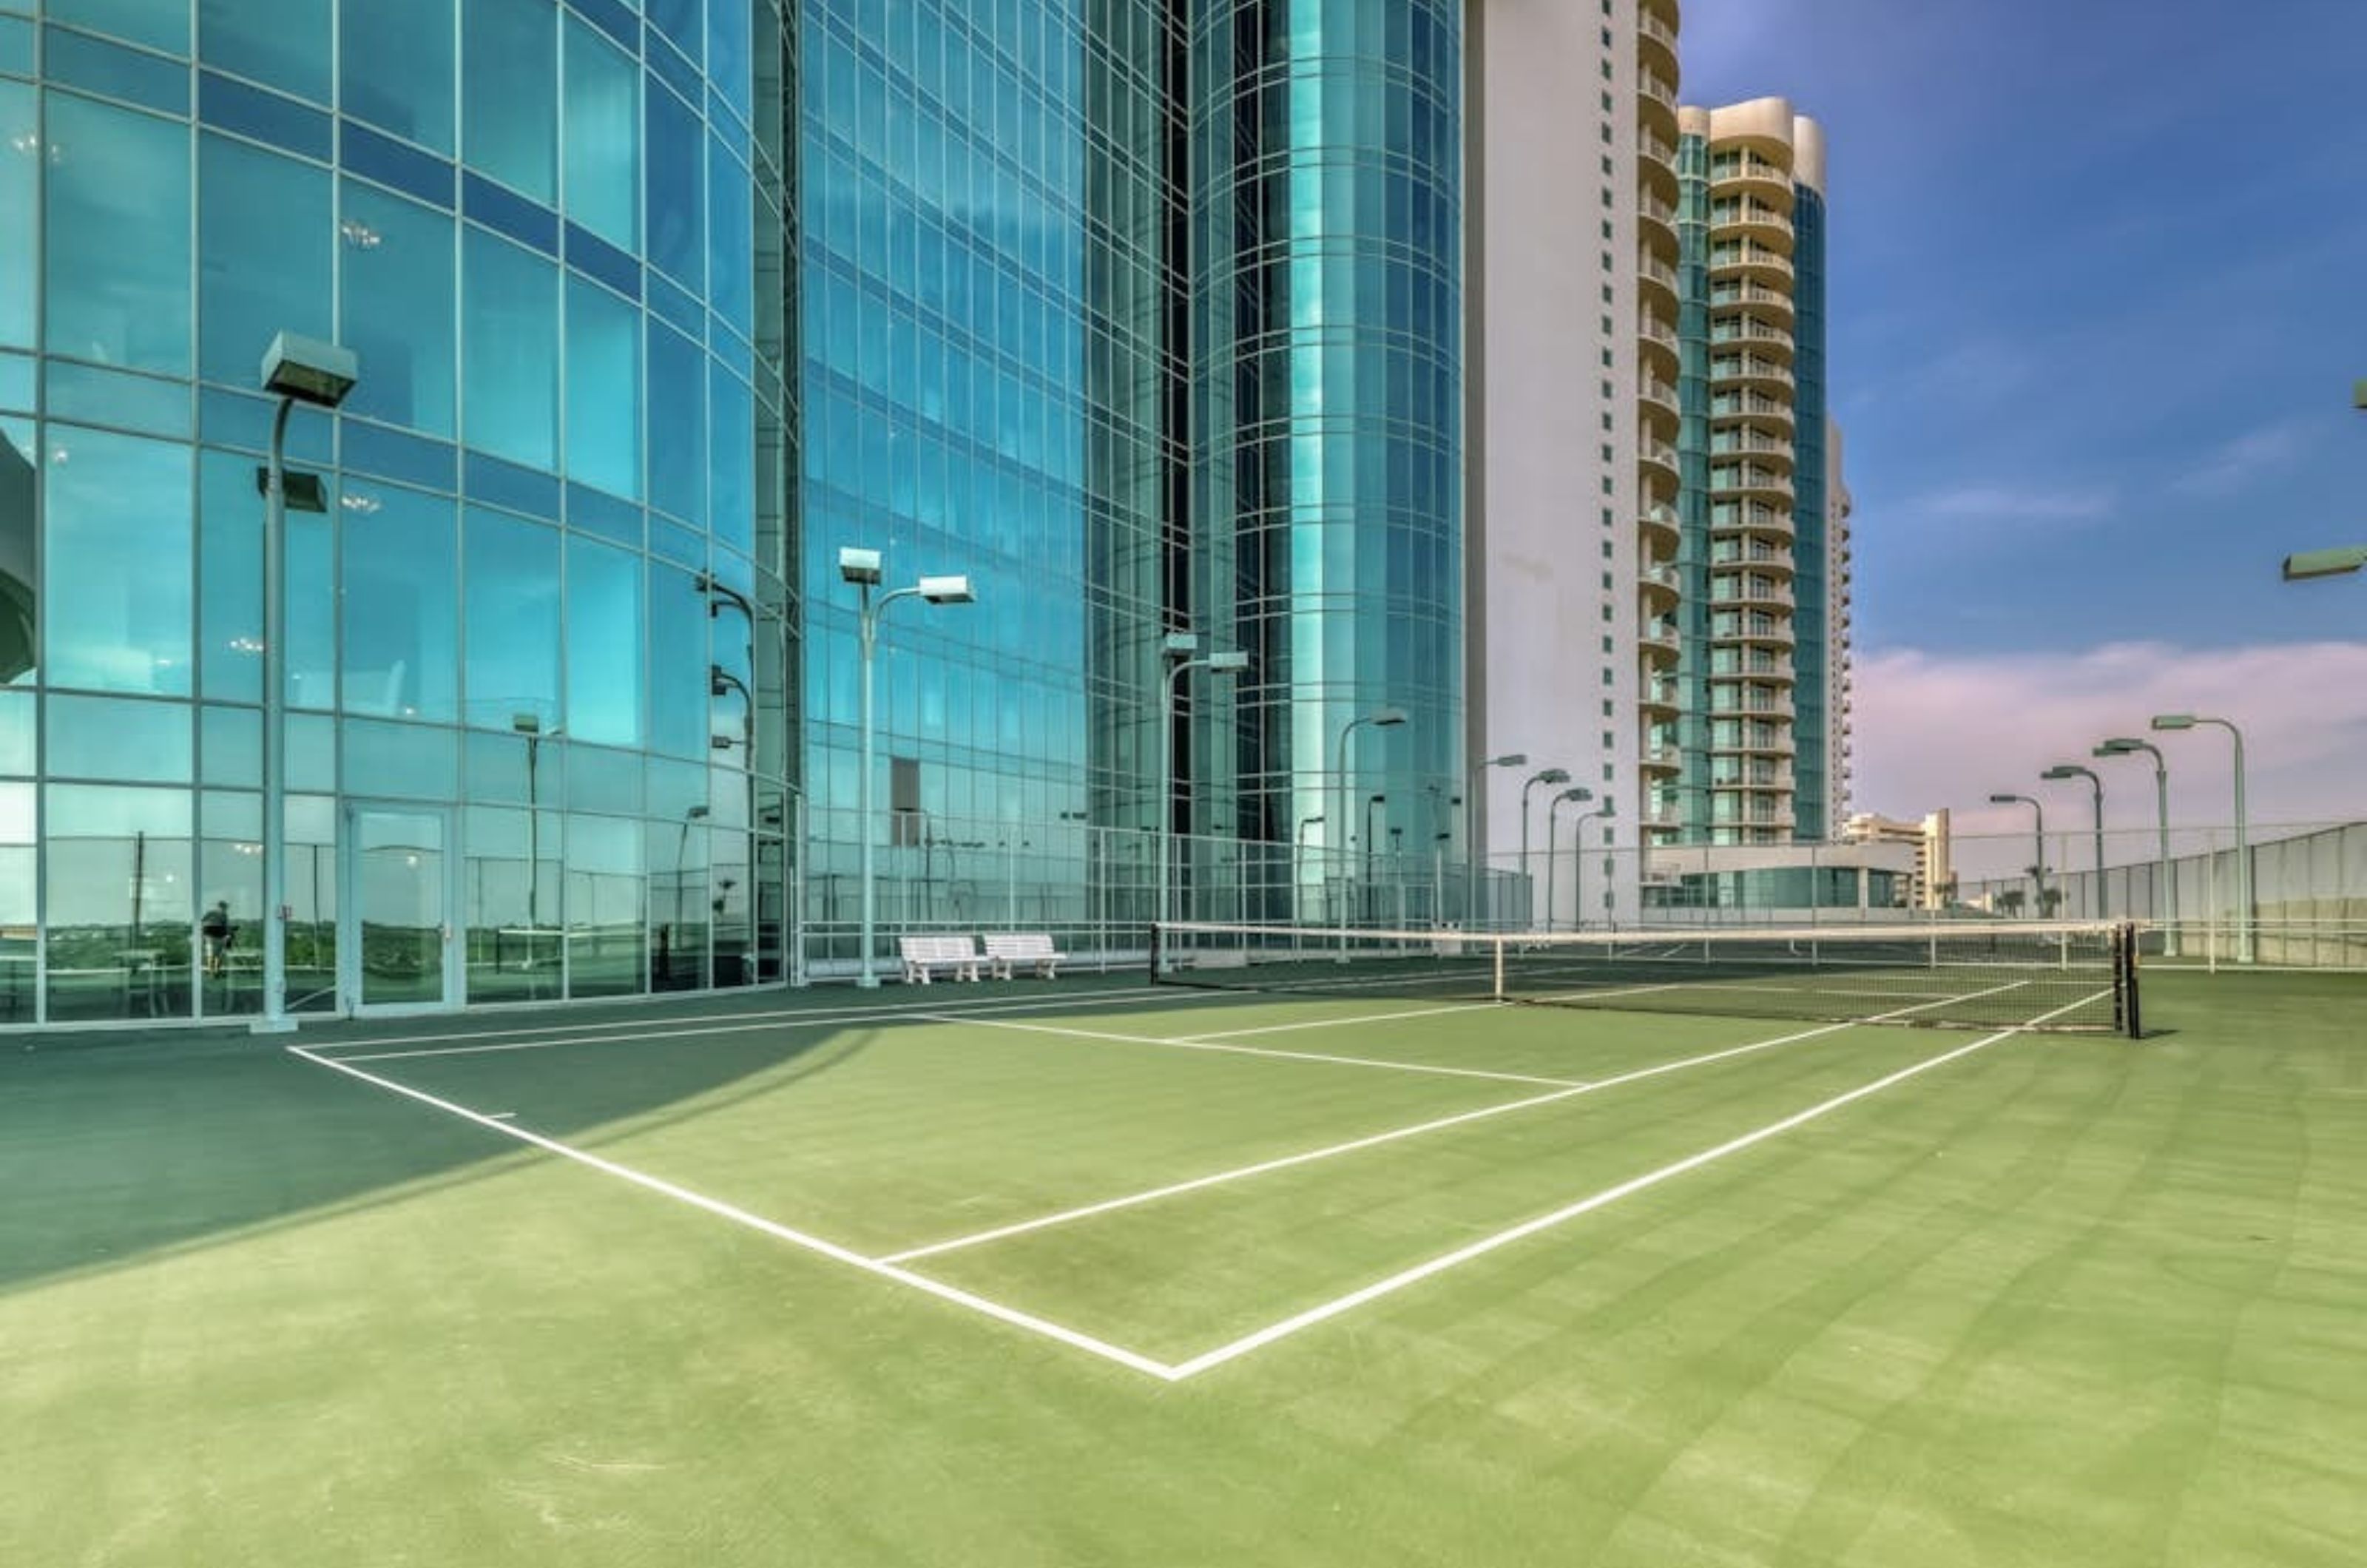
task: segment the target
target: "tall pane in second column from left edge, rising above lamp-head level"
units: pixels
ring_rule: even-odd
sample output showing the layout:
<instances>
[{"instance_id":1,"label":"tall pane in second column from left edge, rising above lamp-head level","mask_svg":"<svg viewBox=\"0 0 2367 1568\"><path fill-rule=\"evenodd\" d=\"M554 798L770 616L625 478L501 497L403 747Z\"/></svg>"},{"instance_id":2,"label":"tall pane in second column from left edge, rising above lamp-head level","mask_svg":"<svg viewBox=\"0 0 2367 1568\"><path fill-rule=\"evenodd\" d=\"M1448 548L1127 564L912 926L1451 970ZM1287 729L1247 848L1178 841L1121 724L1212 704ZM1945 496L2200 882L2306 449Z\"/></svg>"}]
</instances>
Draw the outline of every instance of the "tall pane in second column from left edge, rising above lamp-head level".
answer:
<instances>
[{"instance_id":1,"label":"tall pane in second column from left edge, rising above lamp-head level","mask_svg":"<svg viewBox=\"0 0 2367 1568\"><path fill-rule=\"evenodd\" d=\"M50 147L50 351L189 374L187 126L52 92Z\"/></svg>"}]
</instances>

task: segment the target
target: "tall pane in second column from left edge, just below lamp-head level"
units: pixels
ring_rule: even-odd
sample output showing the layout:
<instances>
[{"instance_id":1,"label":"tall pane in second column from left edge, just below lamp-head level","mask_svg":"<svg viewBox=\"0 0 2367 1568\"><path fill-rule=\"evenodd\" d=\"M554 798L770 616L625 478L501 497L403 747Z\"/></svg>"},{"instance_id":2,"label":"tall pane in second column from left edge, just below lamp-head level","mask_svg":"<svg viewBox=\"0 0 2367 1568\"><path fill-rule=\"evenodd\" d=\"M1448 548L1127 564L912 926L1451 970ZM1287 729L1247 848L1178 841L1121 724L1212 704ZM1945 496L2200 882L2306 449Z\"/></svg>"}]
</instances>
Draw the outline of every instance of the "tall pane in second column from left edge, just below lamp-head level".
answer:
<instances>
[{"instance_id":1,"label":"tall pane in second column from left edge, just below lamp-head level","mask_svg":"<svg viewBox=\"0 0 2367 1568\"><path fill-rule=\"evenodd\" d=\"M52 424L43 457L50 685L187 696L189 448Z\"/></svg>"}]
</instances>

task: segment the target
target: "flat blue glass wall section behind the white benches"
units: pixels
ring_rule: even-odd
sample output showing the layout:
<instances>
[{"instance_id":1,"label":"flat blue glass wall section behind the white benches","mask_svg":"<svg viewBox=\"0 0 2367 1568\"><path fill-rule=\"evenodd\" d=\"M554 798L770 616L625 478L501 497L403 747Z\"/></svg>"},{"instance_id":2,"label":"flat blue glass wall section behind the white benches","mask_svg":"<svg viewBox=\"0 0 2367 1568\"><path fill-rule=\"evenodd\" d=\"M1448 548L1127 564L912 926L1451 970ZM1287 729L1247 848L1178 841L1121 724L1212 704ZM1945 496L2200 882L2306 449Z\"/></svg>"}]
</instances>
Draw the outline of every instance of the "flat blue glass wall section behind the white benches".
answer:
<instances>
[{"instance_id":1,"label":"flat blue glass wall section behind the white benches","mask_svg":"<svg viewBox=\"0 0 2367 1568\"><path fill-rule=\"evenodd\" d=\"M1112 914L1108 881L1148 881L1086 829L1148 815L1179 374L1167 9L800 7L805 886L812 952L838 969L866 831L840 547L883 552L890 590L923 573L978 590L881 623L883 933L975 928L1004 914L980 905L989 883L1060 888L1027 917L1084 921Z\"/></svg>"}]
</instances>

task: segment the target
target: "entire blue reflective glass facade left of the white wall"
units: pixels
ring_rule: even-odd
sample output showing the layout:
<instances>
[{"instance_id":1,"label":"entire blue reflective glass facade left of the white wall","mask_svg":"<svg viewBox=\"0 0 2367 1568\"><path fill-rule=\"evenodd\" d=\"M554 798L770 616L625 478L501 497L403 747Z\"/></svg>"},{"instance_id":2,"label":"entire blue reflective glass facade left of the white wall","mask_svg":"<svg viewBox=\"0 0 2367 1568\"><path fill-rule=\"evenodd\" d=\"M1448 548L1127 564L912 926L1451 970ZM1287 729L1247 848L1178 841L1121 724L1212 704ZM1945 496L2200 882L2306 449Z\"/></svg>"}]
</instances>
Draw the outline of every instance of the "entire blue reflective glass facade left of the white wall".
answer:
<instances>
[{"instance_id":1,"label":"entire blue reflective glass facade left of the white wall","mask_svg":"<svg viewBox=\"0 0 2367 1568\"><path fill-rule=\"evenodd\" d=\"M279 332L291 1009L850 969L845 545L885 933L1427 853L1458 9L0 0L0 1026L260 1004Z\"/></svg>"}]
</instances>

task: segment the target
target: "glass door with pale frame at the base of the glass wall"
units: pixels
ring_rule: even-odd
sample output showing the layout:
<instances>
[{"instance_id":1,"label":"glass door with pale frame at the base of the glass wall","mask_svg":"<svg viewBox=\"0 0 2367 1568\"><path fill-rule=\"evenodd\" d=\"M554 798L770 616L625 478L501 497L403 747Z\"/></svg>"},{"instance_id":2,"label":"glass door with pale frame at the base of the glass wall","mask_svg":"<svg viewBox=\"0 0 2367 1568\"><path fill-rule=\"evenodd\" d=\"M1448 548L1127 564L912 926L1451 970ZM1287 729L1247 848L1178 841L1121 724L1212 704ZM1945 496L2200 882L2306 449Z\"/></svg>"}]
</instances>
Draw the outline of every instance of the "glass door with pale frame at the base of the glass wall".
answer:
<instances>
[{"instance_id":1,"label":"glass door with pale frame at the base of the glass wall","mask_svg":"<svg viewBox=\"0 0 2367 1568\"><path fill-rule=\"evenodd\" d=\"M459 1007L452 962L452 817L428 805L346 805L338 959L353 1011Z\"/></svg>"}]
</instances>

